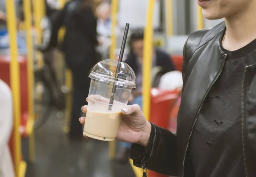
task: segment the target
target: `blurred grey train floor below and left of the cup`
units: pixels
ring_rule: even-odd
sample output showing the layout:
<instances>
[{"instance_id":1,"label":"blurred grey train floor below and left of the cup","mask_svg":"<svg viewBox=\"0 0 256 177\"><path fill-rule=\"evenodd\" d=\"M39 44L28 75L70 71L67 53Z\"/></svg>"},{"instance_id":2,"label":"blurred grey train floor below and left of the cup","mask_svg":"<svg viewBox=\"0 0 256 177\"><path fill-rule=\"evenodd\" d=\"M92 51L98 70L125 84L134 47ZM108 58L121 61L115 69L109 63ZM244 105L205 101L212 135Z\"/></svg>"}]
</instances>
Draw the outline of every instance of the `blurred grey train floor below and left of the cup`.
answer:
<instances>
[{"instance_id":1,"label":"blurred grey train floor below and left of the cup","mask_svg":"<svg viewBox=\"0 0 256 177\"><path fill-rule=\"evenodd\" d=\"M35 132L35 162L28 162L26 177L135 177L129 163L108 158L107 142L70 142L63 131L64 119L55 115ZM22 146L26 160L28 140Z\"/></svg>"}]
</instances>

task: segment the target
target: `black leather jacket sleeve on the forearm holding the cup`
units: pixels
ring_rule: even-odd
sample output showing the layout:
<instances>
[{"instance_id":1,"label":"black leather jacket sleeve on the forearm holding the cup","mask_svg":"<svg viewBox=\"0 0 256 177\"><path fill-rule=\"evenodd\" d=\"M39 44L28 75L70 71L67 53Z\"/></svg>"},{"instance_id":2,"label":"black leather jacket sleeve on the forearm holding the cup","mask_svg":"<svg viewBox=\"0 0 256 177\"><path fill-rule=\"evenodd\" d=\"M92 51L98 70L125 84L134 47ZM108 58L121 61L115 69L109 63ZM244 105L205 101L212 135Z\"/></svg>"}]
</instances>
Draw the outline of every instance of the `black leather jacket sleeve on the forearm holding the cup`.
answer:
<instances>
[{"instance_id":1,"label":"black leather jacket sleeve on the forearm holding the cup","mask_svg":"<svg viewBox=\"0 0 256 177\"><path fill-rule=\"evenodd\" d=\"M156 171L157 173L176 176L177 153L176 135L151 123L151 135L147 148L138 144L131 147L130 157L134 166Z\"/></svg>"}]
</instances>

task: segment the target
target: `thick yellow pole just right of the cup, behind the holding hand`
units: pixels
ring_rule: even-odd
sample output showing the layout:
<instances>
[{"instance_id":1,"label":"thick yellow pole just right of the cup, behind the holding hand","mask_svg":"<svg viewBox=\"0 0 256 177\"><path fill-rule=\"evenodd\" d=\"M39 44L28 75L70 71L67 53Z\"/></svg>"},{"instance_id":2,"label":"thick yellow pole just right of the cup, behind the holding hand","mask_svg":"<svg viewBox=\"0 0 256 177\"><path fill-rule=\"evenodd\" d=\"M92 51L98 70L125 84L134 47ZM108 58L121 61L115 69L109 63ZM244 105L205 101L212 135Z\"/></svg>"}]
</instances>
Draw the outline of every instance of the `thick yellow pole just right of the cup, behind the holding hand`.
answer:
<instances>
[{"instance_id":1,"label":"thick yellow pole just right of the cup, behind the holding hand","mask_svg":"<svg viewBox=\"0 0 256 177\"><path fill-rule=\"evenodd\" d=\"M155 0L148 0L147 23L144 32L144 49L143 49L143 113L149 121L150 103L151 103L151 68L153 57L153 14ZM142 176L142 169L136 168L130 160L131 166L136 177Z\"/></svg>"}]
</instances>

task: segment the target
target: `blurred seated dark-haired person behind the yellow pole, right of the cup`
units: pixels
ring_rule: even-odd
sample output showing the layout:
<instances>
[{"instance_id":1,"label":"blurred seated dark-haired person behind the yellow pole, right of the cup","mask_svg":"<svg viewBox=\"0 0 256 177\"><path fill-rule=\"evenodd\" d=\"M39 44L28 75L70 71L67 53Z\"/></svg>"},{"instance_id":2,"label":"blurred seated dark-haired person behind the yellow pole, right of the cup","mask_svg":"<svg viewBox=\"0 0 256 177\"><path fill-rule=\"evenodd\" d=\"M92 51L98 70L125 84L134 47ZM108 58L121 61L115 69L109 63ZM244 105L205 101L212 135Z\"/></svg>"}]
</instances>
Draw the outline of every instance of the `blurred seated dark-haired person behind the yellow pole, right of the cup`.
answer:
<instances>
[{"instance_id":1,"label":"blurred seated dark-haired person behind the yellow pole, right of the cup","mask_svg":"<svg viewBox=\"0 0 256 177\"><path fill-rule=\"evenodd\" d=\"M129 46L130 53L128 54L125 63L134 70L136 75L136 88L132 91L129 98L129 104L138 104L142 108L142 81L143 81L143 30L135 30L130 37ZM176 70L168 53L154 48L152 67L163 67L163 72L167 73ZM121 143L121 149L116 156L119 162L128 162L130 155L131 143Z\"/></svg>"}]
</instances>

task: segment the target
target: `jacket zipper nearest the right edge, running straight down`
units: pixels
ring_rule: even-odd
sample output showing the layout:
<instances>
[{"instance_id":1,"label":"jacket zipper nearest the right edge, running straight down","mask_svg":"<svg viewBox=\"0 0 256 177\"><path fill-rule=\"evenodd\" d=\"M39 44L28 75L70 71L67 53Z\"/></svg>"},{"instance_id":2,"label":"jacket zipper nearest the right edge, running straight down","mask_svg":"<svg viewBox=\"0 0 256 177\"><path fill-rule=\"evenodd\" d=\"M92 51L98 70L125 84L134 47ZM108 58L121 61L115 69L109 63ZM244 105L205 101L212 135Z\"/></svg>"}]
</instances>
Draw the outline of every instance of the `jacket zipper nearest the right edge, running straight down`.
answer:
<instances>
[{"instance_id":1,"label":"jacket zipper nearest the right edge, running straight down","mask_svg":"<svg viewBox=\"0 0 256 177\"><path fill-rule=\"evenodd\" d=\"M245 171L245 177L248 177L247 174L247 168L246 168L246 159L245 159L245 146L244 146L244 90L245 90L245 79L246 79L246 73L247 68L249 66L245 66L244 69L244 78L243 78L243 84L242 84L242 96L241 96L241 122L242 122L242 143L243 143L243 156L244 156L244 171Z\"/></svg>"}]
</instances>

